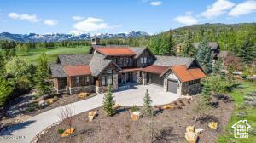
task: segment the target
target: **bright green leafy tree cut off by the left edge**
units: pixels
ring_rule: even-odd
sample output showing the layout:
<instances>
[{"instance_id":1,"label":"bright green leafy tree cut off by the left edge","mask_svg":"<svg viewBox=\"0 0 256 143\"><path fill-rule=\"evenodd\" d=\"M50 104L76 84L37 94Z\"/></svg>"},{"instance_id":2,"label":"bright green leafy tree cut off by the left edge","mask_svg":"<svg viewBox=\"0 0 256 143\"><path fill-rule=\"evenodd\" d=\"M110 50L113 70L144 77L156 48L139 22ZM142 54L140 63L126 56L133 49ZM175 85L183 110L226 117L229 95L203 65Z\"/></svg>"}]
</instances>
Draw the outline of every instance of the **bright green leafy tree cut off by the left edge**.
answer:
<instances>
[{"instance_id":1,"label":"bright green leafy tree cut off by the left edge","mask_svg":"<svg viewBox=\"0 0 256 143\"><path fill-rule=\"evenodd\" d=\"M6 80L0 77L0 109L3 108L5 101L12 92L13 87L11 87Z\"/></svg>"}]
</instances>

